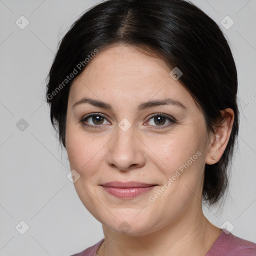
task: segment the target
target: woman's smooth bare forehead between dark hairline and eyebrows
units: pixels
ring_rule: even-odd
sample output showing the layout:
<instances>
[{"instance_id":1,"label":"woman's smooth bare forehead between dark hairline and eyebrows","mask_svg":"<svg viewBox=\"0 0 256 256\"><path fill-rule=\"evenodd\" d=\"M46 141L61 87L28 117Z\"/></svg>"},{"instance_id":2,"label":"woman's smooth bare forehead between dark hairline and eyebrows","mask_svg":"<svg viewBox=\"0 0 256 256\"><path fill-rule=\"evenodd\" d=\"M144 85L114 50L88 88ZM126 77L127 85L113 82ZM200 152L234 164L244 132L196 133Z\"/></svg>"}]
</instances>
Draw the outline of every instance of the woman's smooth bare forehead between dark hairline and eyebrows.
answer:
<instances>
[{"instance_id":1,"label":"woman's smooth bare forehead between dark hairline and eyebrows","mask_svg":"<svg viewBox=\"0 0 256 256\"><path fill-rule=\"evenodd\" d=\"M165 61L140 50L118 45L97 53L72 82L72 101L82 96L135 103L171 97L192 103L188 91L169 75Z\"/></svg>"}]
</instances>

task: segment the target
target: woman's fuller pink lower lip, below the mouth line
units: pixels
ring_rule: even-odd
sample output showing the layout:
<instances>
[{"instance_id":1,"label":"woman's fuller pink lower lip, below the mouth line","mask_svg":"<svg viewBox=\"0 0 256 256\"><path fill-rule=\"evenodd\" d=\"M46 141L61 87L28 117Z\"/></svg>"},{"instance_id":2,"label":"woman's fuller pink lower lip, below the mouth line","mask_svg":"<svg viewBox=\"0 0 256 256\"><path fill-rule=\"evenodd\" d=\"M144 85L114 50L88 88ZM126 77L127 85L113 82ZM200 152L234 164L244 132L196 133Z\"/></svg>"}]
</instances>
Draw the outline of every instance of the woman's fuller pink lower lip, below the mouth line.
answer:
<instances>
[{"instance_id":1,"label":"woman's fuller pink lower lip, below the mouth line","mask_svg":"<svg viewBox=\"0 0 256 256\"><path fill-rule=\"evenodd\" d=\"M120 187L112 187L112 186L103 186L105 191L107 191L109 194L112 194L120 198L135 197L137 195L143 194L151 190L153 187L154 186L120 188Z\"/></svg>"}]
</instances>

